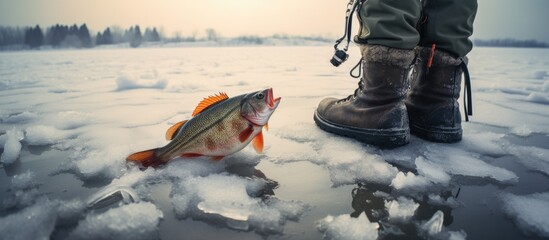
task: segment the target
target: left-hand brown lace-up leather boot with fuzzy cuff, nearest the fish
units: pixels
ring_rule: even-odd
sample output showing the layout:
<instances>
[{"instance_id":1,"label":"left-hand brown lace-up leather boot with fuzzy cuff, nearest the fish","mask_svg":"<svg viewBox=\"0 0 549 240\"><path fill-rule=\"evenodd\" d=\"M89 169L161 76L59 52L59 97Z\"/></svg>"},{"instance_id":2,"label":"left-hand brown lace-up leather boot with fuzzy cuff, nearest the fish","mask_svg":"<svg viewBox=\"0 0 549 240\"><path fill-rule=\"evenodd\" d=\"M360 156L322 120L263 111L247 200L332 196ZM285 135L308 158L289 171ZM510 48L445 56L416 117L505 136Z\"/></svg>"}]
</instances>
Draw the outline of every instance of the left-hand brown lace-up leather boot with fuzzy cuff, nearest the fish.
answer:
<instances>
[{"instance_id":1,"label":"left-hand brown lace-up leather boot with fuzzy cuff, nearest the fish","mask_svg":"<svg viewBox=\"0 0 549 240\"><path fill-rule=\"evenodd\" d=\"M353 95L326 98L314 120L323 130L364 143L397 147L409 142L404 99L414 50L361 45L363 76Z\"/></svg>"}]
</instances>

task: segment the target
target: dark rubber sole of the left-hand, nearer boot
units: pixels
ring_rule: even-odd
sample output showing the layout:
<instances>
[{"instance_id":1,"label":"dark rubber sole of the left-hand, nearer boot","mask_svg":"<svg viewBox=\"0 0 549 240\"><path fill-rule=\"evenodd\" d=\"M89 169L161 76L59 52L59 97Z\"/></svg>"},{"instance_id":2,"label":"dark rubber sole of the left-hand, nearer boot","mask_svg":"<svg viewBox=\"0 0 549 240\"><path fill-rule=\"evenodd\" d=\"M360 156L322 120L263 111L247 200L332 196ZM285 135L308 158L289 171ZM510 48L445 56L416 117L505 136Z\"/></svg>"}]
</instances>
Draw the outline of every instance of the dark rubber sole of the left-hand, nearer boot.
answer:
<instances>
[{"instance_id":1,"label":"dark rubber sole of the left-hand, nearer boot","mask_svg":"<svg viewBox=\"0 0 549 240\"><path fill-rule=\"evenodd\" d=\"M363 129L330 122L315 111L314 120L322 130L337 135L354 138L363 143L382 148L395 148L410 142L410 129Z\"/></svg>"}]
</instances>

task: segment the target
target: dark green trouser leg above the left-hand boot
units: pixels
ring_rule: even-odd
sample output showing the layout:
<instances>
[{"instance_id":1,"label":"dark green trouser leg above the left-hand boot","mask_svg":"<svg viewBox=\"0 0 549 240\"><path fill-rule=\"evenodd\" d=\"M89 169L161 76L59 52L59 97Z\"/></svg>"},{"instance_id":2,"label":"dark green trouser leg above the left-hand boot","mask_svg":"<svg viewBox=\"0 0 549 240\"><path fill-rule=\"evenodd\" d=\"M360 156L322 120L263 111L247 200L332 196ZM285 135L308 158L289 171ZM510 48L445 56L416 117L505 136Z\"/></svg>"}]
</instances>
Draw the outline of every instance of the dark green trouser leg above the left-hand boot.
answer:
<instances>
[{"instance_id":1,"label":"dark green trouser leg above the left-hand boot","mask_svg":"<svg viewBox=\"0 0 549 240\"><path fill-rule=\"evenodd\" d=\"M420 0L368 0L359 10L361 28L355 42L414 49L420 40L420 16Z\"/></svg>"}]
</instances>

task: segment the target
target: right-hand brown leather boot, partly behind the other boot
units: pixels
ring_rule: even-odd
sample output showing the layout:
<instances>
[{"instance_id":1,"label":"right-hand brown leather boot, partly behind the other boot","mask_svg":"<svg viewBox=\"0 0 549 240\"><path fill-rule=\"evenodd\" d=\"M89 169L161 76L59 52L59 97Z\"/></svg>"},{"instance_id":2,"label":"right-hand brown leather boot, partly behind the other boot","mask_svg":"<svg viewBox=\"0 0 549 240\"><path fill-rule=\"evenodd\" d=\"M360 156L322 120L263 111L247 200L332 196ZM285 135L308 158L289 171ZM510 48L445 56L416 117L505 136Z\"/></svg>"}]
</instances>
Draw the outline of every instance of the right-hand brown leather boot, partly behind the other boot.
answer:
<instances>
[{"instance_id":1,"label":"right-hand brown leather boot, partly behind the other boot","mask_svg":"<svg viewBox=\"0 0 549 240\"><path fill-rule=\"evenodd\" d=\"M411 133L423 139L459 142L462 136L457 99L462 59L442 50L421 48L406 98Z\"/></svg>"}]
</instances>

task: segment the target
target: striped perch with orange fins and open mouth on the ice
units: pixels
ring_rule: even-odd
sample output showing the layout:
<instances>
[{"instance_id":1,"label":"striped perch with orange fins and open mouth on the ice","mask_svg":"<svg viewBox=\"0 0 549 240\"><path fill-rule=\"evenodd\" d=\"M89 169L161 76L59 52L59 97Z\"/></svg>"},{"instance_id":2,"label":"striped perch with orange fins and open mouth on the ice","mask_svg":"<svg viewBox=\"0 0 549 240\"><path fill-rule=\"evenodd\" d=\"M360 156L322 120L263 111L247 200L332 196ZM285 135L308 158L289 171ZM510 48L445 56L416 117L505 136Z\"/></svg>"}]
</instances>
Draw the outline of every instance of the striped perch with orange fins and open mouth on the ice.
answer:
<instances>
[{"instance_id":1,"label":"striped perch with orange fins and open mouth on the ice","mask_svg":"<svg viewBox=\"0 0 549 240\"><path fill-rule=\"evenodd\" d=\"M158 167L178 157L209 157L219 161L252 143L257 153L263 151L263 129L280 104L273 89L229 98L220 92L204 98L188 120L180 121L166 131L168 144L140 151L126 160L143 167Z\"/></svg>"}]
</instances>

